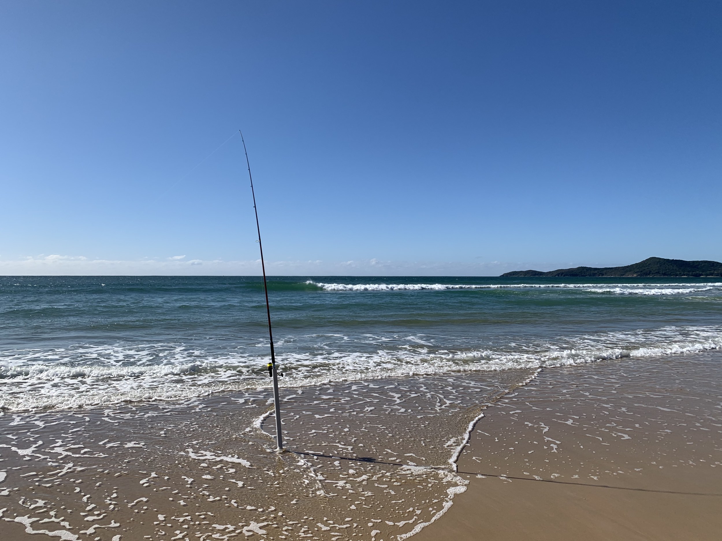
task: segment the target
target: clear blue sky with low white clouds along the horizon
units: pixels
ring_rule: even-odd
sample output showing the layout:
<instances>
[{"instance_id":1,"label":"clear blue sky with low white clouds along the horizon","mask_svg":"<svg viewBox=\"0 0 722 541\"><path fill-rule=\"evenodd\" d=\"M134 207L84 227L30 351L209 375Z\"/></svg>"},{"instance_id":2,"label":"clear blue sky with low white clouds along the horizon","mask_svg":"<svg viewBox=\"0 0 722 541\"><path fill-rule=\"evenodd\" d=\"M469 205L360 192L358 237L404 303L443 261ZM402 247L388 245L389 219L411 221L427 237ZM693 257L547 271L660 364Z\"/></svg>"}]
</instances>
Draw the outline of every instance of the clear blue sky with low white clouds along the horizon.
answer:
<instances>
[{"instance_id":1,"label":"clear blue sky with low white clouds along the horizon","mask_svg":"<svg viewBox=\"0 0 722 541\"><path fill-rule=\"evenodd\" d=\"M0 273L257 273L238 128L271 273L722 260L721 27L717 1L5 1Z\"/></svg>"}]
</instances>

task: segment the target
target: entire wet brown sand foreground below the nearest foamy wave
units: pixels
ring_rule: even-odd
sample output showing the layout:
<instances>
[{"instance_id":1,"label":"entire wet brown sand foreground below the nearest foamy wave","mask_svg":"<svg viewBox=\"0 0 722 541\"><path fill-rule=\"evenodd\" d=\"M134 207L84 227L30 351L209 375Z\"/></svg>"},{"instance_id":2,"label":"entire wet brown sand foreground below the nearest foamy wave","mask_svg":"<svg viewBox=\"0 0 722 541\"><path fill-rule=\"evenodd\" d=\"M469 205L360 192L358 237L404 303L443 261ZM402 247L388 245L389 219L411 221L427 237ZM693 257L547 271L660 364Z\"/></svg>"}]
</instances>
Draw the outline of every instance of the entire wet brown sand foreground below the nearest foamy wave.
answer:
<instances>
[{"instance_id":1,"label":"entire wet brown sand foreground below the nearest foamy wave","mask_svg":"<svg viewBox=\"0 0 722 541\"><path fill-rule=\"evenodd\" d=\"M282 454L267 390L5 413L0 539L718 539L721 377L705 353L287 389Z\"/></svg>"}]
</instances>

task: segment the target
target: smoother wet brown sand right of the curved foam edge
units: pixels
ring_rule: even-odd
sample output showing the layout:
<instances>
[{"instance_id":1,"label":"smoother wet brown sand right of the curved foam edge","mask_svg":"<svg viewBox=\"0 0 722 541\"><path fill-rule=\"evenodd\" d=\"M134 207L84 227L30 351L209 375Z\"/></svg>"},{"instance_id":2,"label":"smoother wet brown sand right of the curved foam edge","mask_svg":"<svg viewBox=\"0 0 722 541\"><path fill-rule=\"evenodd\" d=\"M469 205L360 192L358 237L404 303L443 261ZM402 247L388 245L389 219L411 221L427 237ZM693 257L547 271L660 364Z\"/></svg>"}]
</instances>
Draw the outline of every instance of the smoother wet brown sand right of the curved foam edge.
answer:
<instances>
[{"instance_id":1,"label":"smoother wet brown sand right of the curved foam edge","mask_svg":"<svg viewBox=\"0 0 722 541\"><path fill-rule=\"evenodd\" d=\"M424 540L718 540L722 355L544 370L490 405Z\"/></svg>"}]
</instances>

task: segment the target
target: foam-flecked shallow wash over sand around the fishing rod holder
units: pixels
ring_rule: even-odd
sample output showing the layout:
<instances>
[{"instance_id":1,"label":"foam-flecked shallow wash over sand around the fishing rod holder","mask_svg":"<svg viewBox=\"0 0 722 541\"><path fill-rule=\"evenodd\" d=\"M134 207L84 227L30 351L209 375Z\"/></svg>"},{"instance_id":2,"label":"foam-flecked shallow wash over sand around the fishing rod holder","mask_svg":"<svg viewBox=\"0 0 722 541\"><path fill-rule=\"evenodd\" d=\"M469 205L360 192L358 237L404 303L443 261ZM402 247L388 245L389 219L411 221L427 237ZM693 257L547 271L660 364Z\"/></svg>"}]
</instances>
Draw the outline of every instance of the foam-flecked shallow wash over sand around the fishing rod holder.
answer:
<instances>
[{"instance_id":1,"label":"foam-flecked shallow wash over sand around the fishing rod holder","mask_svg":"<svg viewBox=\"0 0 722 541\"><path fill-rule=\"evenodd\" d=\"M449 459L532 371L0 417L3 540L397 540L466 488Z\"/></svg>"}]
</instances>

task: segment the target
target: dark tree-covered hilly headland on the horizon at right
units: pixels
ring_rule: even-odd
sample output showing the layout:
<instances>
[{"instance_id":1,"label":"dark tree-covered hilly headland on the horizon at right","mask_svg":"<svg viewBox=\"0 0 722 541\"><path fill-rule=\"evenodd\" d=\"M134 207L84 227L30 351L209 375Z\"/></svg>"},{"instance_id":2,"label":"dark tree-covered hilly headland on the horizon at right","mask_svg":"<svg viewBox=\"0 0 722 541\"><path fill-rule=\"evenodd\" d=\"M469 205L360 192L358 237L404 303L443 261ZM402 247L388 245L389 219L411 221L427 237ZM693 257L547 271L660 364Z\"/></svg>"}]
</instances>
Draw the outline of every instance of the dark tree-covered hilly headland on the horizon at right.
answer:
<instances>
[{"instance_id":1,"label":"dark tree-covered hilly headland on the horizon at right","mask_svg":"<svg viewBox=\"0 0 722 541\"><path fill-rule=\"evenodd\" d=\"M501 276L609 276L617 278L722 276L722 263L718 261L685 261L682 259L648 258L626 267L575 267L556 271L513 271Z\"/></svg>"}]
</instances>

